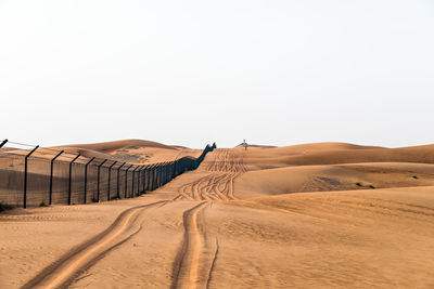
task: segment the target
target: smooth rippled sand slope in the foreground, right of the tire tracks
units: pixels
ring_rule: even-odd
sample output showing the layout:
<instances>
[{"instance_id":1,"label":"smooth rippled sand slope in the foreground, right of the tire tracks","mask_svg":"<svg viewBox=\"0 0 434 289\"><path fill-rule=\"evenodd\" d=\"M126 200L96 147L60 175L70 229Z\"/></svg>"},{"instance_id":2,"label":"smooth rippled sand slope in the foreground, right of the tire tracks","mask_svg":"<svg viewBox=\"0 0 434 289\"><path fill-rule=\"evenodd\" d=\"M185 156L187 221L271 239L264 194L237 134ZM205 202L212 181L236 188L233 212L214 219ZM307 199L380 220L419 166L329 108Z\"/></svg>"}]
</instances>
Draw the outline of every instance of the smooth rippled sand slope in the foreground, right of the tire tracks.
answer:
<instances>
[{"instance_id":1,"label":"smooth rippled sand slope in the foreground, right of the tire tracks","mask_svg":"<svg viewBox=\"0 0 434 289\"><path fill-rule=\"evenodd\" d=\"M294 194L219 206L209 216L220 245L212 285L430 288L432 192Z\"/></svg>"}]
</instances>

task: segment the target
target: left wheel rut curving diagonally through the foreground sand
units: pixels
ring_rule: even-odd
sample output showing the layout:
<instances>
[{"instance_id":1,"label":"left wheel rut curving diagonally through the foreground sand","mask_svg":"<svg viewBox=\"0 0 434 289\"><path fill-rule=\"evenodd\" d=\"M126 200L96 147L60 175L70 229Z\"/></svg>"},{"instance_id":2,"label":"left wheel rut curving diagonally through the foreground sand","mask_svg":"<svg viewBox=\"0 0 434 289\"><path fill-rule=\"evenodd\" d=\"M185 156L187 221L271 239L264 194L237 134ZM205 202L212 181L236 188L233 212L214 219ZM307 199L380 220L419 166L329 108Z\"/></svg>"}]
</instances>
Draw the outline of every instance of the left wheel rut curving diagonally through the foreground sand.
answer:
<instances>
[{"instance_id":1,"label":"left wheel rut curving diagonally through the foreground sand","mask_svg":"<svg viewBox=\"0 0 434 289\"><path fill-rule=\"evenodd\" d=\"M104 232L72 249L22 288L67 287L104 254L140 232L141 225L136 224L136 220L142 210L157 205L162 207L167 202L168 200L161 200L125 210Z\"/></svg>"}]
</instances>

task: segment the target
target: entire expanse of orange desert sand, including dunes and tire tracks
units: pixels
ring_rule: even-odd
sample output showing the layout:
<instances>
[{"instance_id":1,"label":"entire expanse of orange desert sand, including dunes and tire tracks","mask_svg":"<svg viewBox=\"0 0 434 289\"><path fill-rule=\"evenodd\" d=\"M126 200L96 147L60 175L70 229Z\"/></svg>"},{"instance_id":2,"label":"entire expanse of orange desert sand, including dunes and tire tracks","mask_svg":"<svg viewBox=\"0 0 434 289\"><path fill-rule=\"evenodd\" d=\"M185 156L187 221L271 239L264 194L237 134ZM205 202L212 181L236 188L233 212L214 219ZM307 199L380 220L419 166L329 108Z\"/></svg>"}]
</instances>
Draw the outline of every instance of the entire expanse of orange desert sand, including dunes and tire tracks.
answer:
<instances>
[{"instance_id":1,"label":"entire expanse of orange desert sand, including dunes and tire tracks","mask_svg":"<svg viewBox=\"0 0 434 289\"><path fill-rule=\"evenodd\" d=\"M201 153L141 142L67 147ZM219 148L136 199L2 212L0 235L0 288L433 288L434 146Z\"/></svg>"}]
</instances>

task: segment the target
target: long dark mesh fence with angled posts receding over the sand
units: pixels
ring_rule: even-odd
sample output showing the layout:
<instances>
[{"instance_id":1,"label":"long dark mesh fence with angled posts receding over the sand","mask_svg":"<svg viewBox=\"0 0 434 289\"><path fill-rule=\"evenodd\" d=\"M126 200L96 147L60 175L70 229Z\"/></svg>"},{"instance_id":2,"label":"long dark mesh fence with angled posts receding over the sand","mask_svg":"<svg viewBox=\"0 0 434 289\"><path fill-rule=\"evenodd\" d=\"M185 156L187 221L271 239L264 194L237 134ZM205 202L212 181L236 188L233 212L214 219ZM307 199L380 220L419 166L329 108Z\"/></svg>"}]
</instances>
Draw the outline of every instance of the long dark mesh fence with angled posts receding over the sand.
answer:
<instances>
[{"instance_id":1,"label":"long dark mesh fence with angled posts receding over the sand","mask_svg":"<svg viewBox=\"0 0 434 289\"><path fill-rule=\"evenodd\" d=\"M207 145L197 158L132 165L39 146L4 148L8 143L18 144L0 143L0 203L23 208L137 197L195 170L217 147Z\"/></svg>"}]
</instances>

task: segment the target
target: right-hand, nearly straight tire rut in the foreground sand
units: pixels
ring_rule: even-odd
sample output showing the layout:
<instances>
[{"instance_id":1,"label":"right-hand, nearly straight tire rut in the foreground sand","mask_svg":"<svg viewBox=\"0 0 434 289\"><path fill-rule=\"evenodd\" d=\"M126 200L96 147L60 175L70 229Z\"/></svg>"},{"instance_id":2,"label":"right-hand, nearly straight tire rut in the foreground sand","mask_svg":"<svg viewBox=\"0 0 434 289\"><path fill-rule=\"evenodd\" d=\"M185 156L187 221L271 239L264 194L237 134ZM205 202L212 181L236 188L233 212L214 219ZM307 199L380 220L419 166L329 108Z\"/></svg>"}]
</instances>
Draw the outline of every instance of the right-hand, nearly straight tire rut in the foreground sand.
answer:
<instances>
[{"instance_id":1,"label":"right-hand, nearly straight tire rut in the foreground sand","mask_svg":"<svg viewBox=\"0 0 434 289\"><path fill-rule=\"evenodd\" d=\"M178 251L173 266L173 281L170 288L194 289L204 287L209 283L210 274L215 265L218 248L215 250L212 263L206 262L202 255L205 253L206 240L200 228L199 215L210 202L203 201L183 213L184 235L182 245ZM217 242L217 239L216 239ZM217 242L218 246L218 242ZM208 263L208 262L206 262ZM209 267L206 274L201 274ZM206 276L207 275L207 276Z\"/></svg>"}]
</instances>

